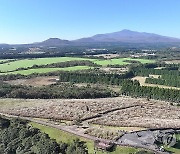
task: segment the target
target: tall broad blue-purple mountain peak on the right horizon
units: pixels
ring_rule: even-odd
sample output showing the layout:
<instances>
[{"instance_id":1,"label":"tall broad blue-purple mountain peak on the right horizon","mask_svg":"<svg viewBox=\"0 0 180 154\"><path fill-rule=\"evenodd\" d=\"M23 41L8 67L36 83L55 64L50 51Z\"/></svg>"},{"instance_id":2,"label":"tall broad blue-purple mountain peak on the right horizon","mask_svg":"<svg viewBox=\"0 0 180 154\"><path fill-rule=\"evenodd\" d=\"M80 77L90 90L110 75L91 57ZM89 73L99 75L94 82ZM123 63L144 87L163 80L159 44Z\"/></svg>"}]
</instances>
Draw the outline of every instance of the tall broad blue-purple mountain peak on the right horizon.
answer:
<instances>
[{"instance_id":1,"label":"tall broad blue-purple mountain peak on the right horizon","mask_svg":"<svg viewBox=\"0 0 180 154\"><path fill-rule=\"evenodd\" d=\"M180 39L162 36L153 33L122 30L114 33L97 34L92 37L82 38L78 42L124 42L124 43L162 43L180 42Z\"/></svg>"}]
</instances>

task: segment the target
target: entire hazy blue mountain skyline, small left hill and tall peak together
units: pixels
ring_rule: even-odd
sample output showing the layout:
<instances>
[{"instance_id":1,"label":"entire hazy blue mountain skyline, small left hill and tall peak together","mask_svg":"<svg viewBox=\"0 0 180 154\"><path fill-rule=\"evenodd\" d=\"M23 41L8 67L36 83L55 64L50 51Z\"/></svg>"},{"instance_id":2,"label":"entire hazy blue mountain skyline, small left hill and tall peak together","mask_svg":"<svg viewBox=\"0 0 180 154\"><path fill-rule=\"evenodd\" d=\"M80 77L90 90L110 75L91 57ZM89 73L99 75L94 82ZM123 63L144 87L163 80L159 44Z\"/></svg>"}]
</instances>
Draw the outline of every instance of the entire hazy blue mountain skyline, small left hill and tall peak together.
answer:
<instances>
[{"instance_id":1,"label":"entire hazy blue mountain skyline, small left hill and tall peak together","mask_svg":"<svg viewBox=\"0 0 180 154\"><path fill-rule=\"evenodd\" d=\"M43 42L32 44L17 44L10 46L68 46L68 45L83 45L91 43L180 43L180 39L168 36L162 36L153 33L136 32L124 29L119 32L97 34L92 37L81 38L73 41L62 40L59 38L49 38ZM8 44L0 44L0 47L6 47Z\"/></svg>"}]
</instances>

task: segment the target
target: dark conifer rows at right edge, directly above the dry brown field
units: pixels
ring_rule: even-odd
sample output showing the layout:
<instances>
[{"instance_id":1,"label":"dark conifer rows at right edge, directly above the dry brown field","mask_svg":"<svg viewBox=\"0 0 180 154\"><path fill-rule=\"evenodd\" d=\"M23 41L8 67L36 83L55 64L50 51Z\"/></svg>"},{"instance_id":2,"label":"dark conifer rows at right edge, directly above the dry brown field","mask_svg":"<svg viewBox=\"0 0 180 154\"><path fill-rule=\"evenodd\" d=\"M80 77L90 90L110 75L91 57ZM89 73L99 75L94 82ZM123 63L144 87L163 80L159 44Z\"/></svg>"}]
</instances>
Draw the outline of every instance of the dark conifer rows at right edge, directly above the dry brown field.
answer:
<instances>
[{"instance_id":1,"label":"dark conifer rows at right edge, directly above the dry brown field","mask_svg":"<svg viewBox=\"0 0 180 154\"><path fill-rule=\"evenodd\" d=\"M121 92L124 95L133 97L146 97L180 103L180 90L140 86L138 81L125 81Z\"/></svg>"}]
</instances>

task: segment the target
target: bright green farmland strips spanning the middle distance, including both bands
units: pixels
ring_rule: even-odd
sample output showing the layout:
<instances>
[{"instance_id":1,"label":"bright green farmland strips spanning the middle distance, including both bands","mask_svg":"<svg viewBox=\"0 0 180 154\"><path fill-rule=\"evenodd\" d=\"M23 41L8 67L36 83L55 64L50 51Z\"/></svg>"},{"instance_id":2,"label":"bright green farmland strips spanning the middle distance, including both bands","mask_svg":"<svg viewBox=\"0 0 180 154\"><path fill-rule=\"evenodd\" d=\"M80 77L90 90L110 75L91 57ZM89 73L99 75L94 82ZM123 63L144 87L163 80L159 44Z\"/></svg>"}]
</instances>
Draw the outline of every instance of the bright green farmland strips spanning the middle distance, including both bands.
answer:
<instances>
[{"instance_id":1,"label":"bright green farmland strips spanning the middle distance, including both bands","mask_svg":"<svg viewBox=\"0 0 180 154\"><path fill-rule=\"evenodd\" d=\"M7 72L7 73L0 73L0 75L5 75L5 74L28 75L28 74L32 74L32 73L47 73L47 72L54 72L54 71L58 71L58 70L73 71L73 70L83 70L83 69L90 68L88 66L75 66L75 67L68 67L68 68L38 68L38 69L15 71L18 68L27 68L27 67L32 67L33 65L40 66L40 65L47 65L47 64L53 64L53 63L59 63L59 62L74 61L74 60L78 60L78 61L89 60L89 61L94 62L95 64L99 64L104 67L107 65L130 64L130 62L125 62L125 60L139 61L143 64L155 62L153 60L133 59L133 58L117 58L117 59L110 59L110 60L79 58L79 57L53 57L53 58L22 59L22 60L16 60L16 61L5 63L5 64L0 64L0 71ZM1 61L3 61L3 60L0 60L0 62ZM12 71L12 72L8 73L8 71Z\"/></svg>"}]
</instances>

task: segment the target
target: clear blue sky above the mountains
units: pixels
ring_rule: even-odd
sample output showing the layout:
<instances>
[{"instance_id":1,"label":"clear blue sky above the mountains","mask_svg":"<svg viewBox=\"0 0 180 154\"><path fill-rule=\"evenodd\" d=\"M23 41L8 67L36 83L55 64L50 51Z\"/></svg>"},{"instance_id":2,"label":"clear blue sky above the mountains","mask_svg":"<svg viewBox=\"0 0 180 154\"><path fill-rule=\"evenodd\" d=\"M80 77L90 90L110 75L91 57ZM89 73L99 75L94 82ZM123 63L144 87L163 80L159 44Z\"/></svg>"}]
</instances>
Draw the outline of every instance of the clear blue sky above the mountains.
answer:
<instances>
[{"instance_id":1,"label":"clear blue sky above the mountains","mask_svg":"<svg viewBox=\"0 0 180 154\"><path fill-rule=\"evenodd\" d=\"M0 0L0 43L122 29L180 38L180 0Z\"/></svg>"}]
</instances>

